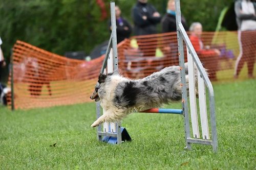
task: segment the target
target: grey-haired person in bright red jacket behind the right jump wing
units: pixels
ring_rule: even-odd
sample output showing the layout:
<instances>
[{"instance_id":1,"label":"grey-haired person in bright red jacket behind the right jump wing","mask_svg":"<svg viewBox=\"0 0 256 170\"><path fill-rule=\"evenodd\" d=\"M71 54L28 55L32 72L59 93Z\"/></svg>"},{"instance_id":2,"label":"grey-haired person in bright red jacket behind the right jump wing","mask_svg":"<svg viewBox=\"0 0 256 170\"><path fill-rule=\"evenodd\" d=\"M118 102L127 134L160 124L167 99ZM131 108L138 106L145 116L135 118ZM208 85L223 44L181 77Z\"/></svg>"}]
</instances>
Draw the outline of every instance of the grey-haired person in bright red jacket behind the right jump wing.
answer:
<instances>
[{"instance_id":1,"label":"grey-haired person in bright red jacket behind the right jump wing","mask_svg":"<svg viewBox=\"0 0 256 170\"><path fill-rule=\"evenodd\" d=\"M200 22L193 22L189 28L191 34L189 39L197 52L204 68L208 69L209 78L217 80L216 71L220 59L220 51L217 49L206 49L201 40L202 25Z\"/></svg>"}]
</instances>

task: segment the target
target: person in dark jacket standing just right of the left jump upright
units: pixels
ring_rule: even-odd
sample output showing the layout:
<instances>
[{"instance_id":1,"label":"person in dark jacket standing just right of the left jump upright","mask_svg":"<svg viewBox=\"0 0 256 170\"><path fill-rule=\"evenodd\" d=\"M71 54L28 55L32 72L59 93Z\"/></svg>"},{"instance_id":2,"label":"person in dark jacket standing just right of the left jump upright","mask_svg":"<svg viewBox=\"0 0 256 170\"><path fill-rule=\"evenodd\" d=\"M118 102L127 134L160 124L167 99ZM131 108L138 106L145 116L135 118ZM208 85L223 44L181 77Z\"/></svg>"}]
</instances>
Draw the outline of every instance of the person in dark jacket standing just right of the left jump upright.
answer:
<instances>
[{"instance_id":1,"label":"person in dark jacket standing just right of the left jump upright","mask_svg":"<svg viewBox=\"0 0 256 170\"><path fill-rule=\"evenodd\" d=\"M121 42L125 38L129 38L132 33L132 27L130 23L121 17L121 10L118 6L115 6L116 11L116 36L117 43ZM111 21L110 21L110 30L111 30Z\"/></svg>"}]
</instances>

